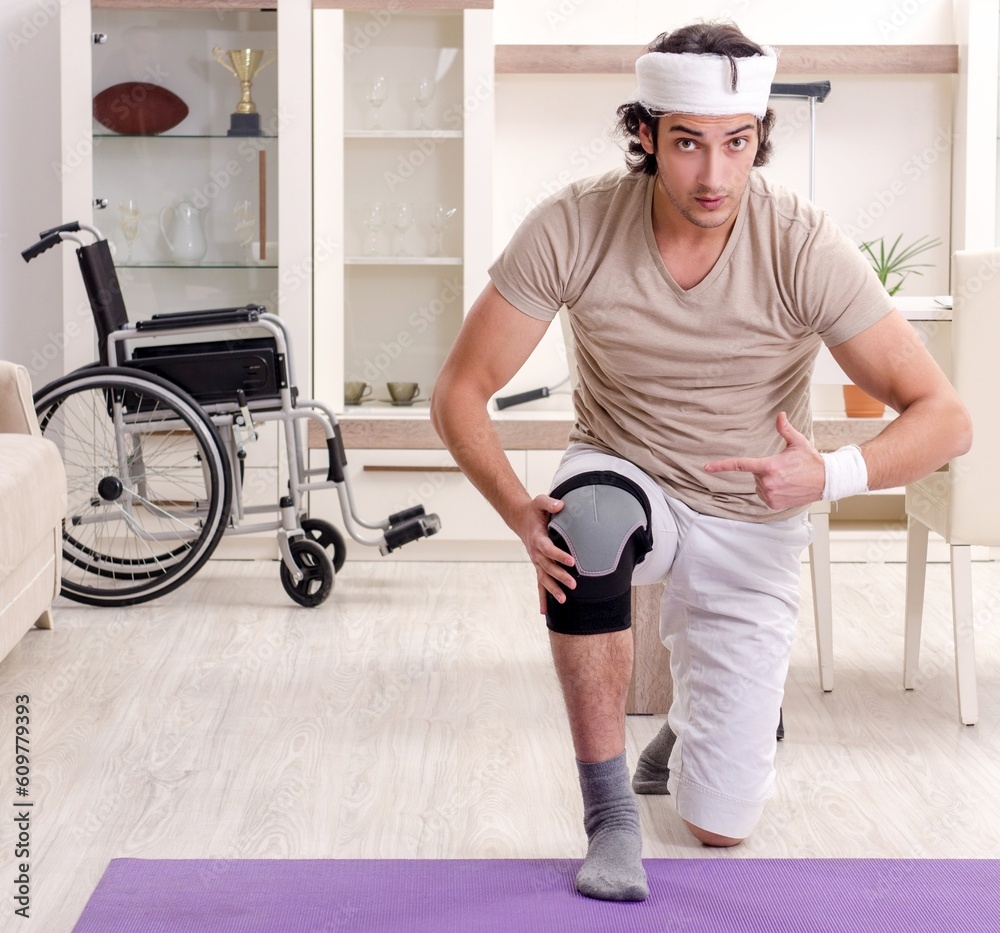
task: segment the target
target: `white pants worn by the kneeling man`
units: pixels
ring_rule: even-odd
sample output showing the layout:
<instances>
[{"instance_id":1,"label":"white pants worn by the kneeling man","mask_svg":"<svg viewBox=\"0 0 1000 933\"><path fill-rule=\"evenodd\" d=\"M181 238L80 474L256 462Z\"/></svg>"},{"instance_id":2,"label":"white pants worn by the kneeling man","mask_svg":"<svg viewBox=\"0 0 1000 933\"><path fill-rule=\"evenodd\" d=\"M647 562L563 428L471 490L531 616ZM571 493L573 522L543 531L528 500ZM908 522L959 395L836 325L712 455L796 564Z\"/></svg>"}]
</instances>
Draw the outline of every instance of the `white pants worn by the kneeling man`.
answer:
<instances>
[{"instance_id":1,"label":"white pants worn by the kneeling man","mask_svg":"<svg viewBox=\"0 0 1000 933\"><path fill-rule=\"evenodd\" d=\"M665 580L660 637L670 651L677 736L669 788L677 812L709 832L750 834L774 785L776 729L799 611L805 514L758 524L688 508L637 466L586 444L563 456L552 488L613 470L652 509L653 550L633 584Z\"/></svg>"}]
</instances>

